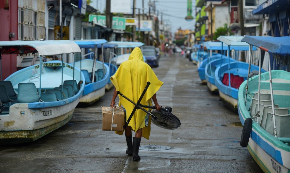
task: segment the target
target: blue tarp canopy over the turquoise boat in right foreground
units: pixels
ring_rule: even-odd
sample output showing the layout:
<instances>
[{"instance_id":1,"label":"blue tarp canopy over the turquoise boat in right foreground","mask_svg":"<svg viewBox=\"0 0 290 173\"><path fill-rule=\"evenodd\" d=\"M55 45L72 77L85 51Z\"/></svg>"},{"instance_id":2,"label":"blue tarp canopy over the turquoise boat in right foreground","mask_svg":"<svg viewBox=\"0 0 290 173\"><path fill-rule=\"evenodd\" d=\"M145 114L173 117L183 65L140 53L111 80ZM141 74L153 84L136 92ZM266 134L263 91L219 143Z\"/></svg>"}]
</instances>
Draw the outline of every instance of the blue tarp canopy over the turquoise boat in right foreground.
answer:
<instances>
[{"instance_id":1,"label":"blue tarp canopy over the turquoise boat in right foreground","mask_svg":"<svg viewBox=\"0 0 290 173\"><path fill-rule=\"evenodd\" d=\"M290 37L245 36L243 42L256 47L268 49L268 52L279 55L290 55Z\"/></svg>"}]
</instances>

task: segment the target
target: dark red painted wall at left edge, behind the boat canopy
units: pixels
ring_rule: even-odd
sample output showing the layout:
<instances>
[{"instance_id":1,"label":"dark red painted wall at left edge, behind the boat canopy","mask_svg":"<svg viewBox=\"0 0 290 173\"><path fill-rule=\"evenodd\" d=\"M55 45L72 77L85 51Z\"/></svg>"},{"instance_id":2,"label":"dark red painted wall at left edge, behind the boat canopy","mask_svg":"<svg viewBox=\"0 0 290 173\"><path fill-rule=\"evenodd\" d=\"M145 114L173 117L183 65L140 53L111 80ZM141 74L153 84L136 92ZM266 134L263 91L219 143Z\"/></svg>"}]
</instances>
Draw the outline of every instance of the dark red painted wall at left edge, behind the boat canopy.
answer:
<instances>
[{"instance_id":1,"label":"dark red painted wall at left edge, behind the boat canopy","mask_svg":"<svg viewBox=\"0 0 290 173\"><path fill-rule=\"evenodd\" d=\"M8 9L7 9L8 7ZM18 40L18 0L0 0L0 41ZM9 33L15 33L9 38ZM2 55L2 80L7 78L16 68L16 55Z\"/></svg>"}]
</instances>

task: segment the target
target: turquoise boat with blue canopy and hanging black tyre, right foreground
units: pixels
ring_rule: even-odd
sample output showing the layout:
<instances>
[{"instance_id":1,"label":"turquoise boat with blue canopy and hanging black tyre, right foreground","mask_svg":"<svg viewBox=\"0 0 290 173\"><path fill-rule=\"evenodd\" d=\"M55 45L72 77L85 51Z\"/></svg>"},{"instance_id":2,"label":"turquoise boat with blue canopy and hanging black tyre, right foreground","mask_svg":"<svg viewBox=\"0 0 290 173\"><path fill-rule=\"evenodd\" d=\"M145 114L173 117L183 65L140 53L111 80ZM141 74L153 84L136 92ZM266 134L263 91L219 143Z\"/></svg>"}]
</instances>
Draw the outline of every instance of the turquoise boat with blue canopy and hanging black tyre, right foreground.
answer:
<instances>
[{"instance_id":1,"label":"turquoise boat with blue canopy and hanging black tyre, right foreground","mask_svg":"<svg viewBox=\"0 0 290 173\"><path fill-rule=\"evenodd\" d=\"M290 66L290 37L245 36L242 41L273 54L282 65ZM260 57L259 61L261 64ZM260 71L239 87L241 146L248 147L264 172L290 172L289 100L290 73L283 70Z\"/></svg>"}]
</instances>

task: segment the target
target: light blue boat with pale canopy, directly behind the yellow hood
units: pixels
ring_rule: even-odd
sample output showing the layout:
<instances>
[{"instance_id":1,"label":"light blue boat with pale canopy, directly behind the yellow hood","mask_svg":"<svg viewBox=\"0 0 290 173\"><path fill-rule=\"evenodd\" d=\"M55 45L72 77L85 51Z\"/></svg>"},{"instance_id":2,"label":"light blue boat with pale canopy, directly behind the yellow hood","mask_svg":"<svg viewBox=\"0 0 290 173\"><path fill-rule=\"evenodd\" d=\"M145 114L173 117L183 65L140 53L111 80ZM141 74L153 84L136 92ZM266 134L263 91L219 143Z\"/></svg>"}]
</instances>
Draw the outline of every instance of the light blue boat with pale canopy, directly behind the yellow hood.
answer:
<instances>
[{"instance_id":1,"label":"light blue boat with pale canopy, directly behind the yellow hood","mask_svg":"<svg viewBox=\"0 0 290 173\"><path fill-rule=\"evenodd\" d=\"M135 47L141 47L144 45L142 42L132 42L132 41L110 41L109 44L116 44L117 48L135 48ZM124 61L127 61L131 53L123 53L121 52L121 55L117 55L113 59L113 61L116 62L117 67L120 66L120 64ZM146 62L146 57L143 56L144 62Z\"/></svg>"}]
</instances>

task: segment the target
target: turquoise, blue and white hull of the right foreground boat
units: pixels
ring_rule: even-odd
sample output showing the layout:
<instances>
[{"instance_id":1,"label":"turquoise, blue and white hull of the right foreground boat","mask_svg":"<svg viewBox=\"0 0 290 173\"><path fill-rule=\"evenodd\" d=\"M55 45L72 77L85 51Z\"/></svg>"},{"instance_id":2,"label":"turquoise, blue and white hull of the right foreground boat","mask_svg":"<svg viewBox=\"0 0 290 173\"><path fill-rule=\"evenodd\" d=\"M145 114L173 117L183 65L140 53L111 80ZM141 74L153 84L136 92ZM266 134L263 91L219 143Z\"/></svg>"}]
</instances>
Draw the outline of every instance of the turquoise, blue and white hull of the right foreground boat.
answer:
<instances>
[{"instance_id":1,"label":"turquoise, blue and white hull of the right foreground boat","mask_svg":"<svg viewBox=\"0 0 290 173\"><path fill-rule=\"evenodd\" d=\"M269 72L265 72L261 74L261 81L265 82L267 80L267 76ZM288 76L288 77L287 77ZM288 78L290 81L290 73L282 70L272 70L272 81L275 81L277 78ZM281 80L280 80L281 81ZM273 93L274 93L274 102L278 104L279 100L275 100L277 97L276 94L282 93L281 89L285 84L281 84L280 81L278 83L273 83ZM279 84L280 83L280 84ZM290 82L289 82L290 83ZM248 98L250 99L253 93L257 92L258 89L258 76L255 76L249 80L248 92L250 94L247 95L247 102L245 104L245 87L247 82L244 81L239 88L239 96L238 96L238 113L239 118L242 124L245 123L246 118L251 118L251 115L248 111L248 107L246 105L250 105ZM262 84L261 84L262 85ZM289 85L289 84L288 84ZM252 89L254 87L254 89ZM269 83L262 85L261 93L264 92L265 89L269 89ZM286 88L288 88L286 86ZM275 90L277 89L277 90ZM288 89L289 91L289 89ZM283 98L286 97L286 92L283 92ZM288 93L289 94L289 93ZM276 96L275 96L276 95ZM284 103L285 100L281 100L280 103ZM288 102L289 103L289 102ZM283 104L280 104L283 106ZM290 146L286 143L283 143L279 138L274 137L270 133L268 133L265 129L263 129L256 121L252 122L251 135L248 143L248 150L254 160L259 164L264 172L290 172Z\"/></svg>"}]
</instances>

